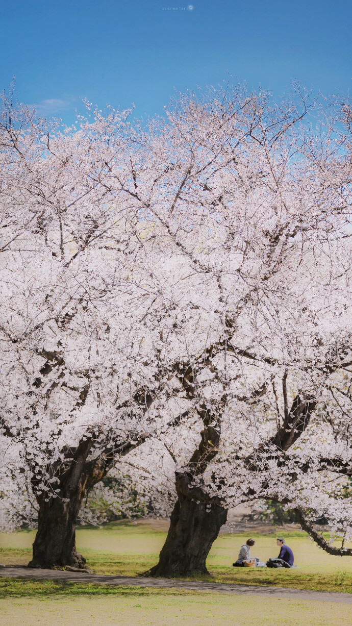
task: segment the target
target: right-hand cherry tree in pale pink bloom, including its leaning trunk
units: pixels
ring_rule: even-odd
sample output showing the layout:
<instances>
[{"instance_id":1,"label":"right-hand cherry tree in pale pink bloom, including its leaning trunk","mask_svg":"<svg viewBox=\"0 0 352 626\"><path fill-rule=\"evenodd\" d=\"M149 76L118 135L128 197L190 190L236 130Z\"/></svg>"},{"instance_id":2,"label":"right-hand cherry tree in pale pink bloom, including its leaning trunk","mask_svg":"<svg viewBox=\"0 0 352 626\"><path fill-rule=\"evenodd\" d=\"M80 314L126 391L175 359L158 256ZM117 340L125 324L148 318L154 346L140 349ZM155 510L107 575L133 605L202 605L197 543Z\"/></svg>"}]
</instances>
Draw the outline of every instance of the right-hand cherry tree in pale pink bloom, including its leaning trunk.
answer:
<instances>
[{"instance_id":1,"label":"right-hand cherry tree in pale pink bloom, including its leaning trunk","mask_svg":"<svg viewBox=\"0 0 352 626\"><path fill-rule=\"evenodd\" d=\"M181 158L183 176L172 203L153 208L175 254L182 250L194 272L213 281L212 311L220 313L216 341L209 336L203 350L190 350L178 371L204 430L177 470L179 500L160 562L150 570L157 576L205 573L226 518L221 505L263 496L296 503L319 545L349 554L318 538L305 509L344 518L349 536L350 506L327 498L331 473L323 481L322 471L351 473L350 449L323 460L334 429L341 430L325 419L329 411L333 424L341 422L341 398L336 404L330 387L347 393L341 372L348 376L352 362L350 122L341 128L326 110L324 125L303 127L304 98L299 106L277 106L265 96L222 96L211 105L182 103L170 115L172 143L184 149L172 168ZM204 296L197 302L203 310L211 302L209 292Z\"/></svg>"}]
</instances>

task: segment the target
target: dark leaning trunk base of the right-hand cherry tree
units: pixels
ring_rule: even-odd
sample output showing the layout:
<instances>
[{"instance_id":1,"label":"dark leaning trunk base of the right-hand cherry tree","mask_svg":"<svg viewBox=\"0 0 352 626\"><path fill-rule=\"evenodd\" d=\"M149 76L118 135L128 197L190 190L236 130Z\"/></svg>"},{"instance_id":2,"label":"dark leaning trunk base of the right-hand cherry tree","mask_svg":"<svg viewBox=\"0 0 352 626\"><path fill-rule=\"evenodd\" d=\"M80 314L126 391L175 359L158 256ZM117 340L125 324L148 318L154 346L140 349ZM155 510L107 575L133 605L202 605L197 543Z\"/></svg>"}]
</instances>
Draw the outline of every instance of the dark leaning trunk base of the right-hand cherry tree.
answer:
<instances>
[{"instance_id":1,"label":"dark leaning trunk base of the right-hand cherry tree","mask_svg":"<svg viewBox=\"0 0 352 626\"><path fill-rule=\"evenodd\" d=\"M146 572L157 578L189 577L208 574L205 560L226 522L222 506L197 502L179 493L170 528L160 552L159 562Z\"/></svg>"}]
</instances>

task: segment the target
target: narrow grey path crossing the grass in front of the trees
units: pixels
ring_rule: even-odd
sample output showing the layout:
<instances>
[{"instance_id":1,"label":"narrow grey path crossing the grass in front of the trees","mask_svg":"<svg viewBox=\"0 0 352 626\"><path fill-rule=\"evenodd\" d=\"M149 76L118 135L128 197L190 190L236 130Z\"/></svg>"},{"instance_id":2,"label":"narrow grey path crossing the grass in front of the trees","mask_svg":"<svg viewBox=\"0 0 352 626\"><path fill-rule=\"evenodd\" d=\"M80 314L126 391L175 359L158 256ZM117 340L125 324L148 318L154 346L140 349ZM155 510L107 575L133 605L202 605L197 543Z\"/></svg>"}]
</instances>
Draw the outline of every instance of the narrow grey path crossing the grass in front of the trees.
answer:
<instances>
[{"instance_id":1,"label":"narrow grey path crossing the grass in front of the trees","mask_svg":"<svg viewBox=\"0 0 352 626\"><path fill-rule=\"evenodd\" d=\"M342 602L352 604L352 593L327 591L309 591L306 589L286 589L284 587L264 587L263 585L236 585L234 583L208 583L195 580L176 580L173 578L137 578L80 572L62 572L61 570L37 570L26 567L0 566L0 576L11 578L37 578L41 580L68 580L69 582L89 582L100 585L127 585L128 587L167 587L234 593L237 595L269 595L274 598L297 598L298 600L320 600L321 602Z\"/></svg>"}]
</instances>

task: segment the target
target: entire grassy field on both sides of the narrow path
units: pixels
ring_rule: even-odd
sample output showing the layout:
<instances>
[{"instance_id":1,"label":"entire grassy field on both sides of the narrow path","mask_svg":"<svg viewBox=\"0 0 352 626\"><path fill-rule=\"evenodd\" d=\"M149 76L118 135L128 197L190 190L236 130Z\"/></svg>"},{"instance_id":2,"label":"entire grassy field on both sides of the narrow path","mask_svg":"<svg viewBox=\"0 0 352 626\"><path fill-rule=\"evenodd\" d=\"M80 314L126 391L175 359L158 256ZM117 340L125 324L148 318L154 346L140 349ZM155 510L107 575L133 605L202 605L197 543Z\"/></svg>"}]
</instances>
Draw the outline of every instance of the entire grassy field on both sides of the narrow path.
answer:
<instances>
[{"instance_id":1,"label":"entire grassy field on both sides of the narrow path","mask_svg":"<svg viewBox=\"0 0 352 626\"><path fill-rule=\"evenodd\" d=\"M26 564L34 531L0 533L0 563ZM80 528L78 549L96 573L138 575L157 562L166 533L148 525L111 523L103 528ZM252 553L266 560L277 555L275 535L256 536ZM276 585L352 593L352 558L330 557L304 533L285 535L298 569L233 568L247 535L222 535L210 552L212 580ZM299 602L256 595L245 597L175 589L116 588L88 583L0 579L0 624L234 624L286 623L288 626L350 626L351 605Z\"/></svg>"}]
</instances>

